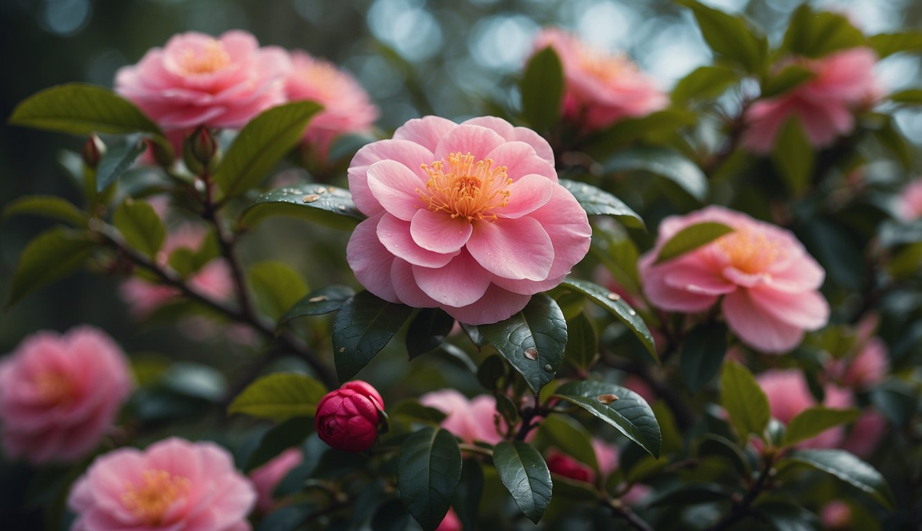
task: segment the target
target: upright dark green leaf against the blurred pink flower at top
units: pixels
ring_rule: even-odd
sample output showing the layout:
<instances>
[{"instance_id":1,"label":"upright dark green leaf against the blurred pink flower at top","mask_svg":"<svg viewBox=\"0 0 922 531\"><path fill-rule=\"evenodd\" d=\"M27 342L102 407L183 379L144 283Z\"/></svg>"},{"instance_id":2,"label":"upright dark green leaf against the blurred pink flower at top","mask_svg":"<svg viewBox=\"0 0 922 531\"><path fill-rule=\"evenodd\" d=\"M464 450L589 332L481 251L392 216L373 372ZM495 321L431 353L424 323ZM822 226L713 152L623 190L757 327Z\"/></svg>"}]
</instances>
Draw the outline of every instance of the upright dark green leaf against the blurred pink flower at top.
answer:
<instances>
[{"instance_id":1,"label":"upright dark green leaf against the blurred pink flower at top","mask_svg":"<svg viewBox=\"0 0 922 531\"><path fill-rule=\"evenodd\" d=\"M522 114L533 129L546 131L557 124L563 103L563 66L553 48L548 46L528 59L519 89Z\"/></svg>"}]
</instances>

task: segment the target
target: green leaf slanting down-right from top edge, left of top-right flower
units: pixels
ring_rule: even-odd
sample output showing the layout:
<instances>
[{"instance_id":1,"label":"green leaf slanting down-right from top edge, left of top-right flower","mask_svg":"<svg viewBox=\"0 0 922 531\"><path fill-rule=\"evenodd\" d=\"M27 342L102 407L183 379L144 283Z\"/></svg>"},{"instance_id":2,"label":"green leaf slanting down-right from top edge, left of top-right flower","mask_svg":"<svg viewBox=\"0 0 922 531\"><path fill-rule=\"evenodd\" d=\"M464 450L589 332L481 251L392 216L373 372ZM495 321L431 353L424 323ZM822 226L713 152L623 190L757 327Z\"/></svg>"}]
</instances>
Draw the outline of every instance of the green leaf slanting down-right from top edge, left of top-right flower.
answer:
<instances>
[{"instance_id":1,"label":"green leaf slanting down-right from top edge, left of top-right flower","mask_svg":"<svg viewBox=\"0 0 922 531\"><path fill-rule=\"evenodd\" d=\"M747 72L758 74L768 54L768 41L756 33L749 23L693 0L679 0L691 8L704 41L717 55L743 66Z\"/></svg>"}]
</instances>

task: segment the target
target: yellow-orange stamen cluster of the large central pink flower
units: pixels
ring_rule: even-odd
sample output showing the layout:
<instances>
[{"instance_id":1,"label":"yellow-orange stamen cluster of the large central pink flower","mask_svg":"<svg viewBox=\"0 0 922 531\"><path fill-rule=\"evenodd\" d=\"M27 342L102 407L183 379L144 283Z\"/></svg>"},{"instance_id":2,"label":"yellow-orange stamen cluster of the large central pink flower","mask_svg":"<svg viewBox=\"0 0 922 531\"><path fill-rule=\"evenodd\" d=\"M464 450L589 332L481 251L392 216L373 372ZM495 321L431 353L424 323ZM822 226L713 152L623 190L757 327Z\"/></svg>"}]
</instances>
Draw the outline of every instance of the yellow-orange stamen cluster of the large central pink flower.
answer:
<instances>
[{"instance_id":1,"label":"yellow-orange stamen cluster of the large central pink flower","mask_svg":"<svg viewBox=\"0 0 922 531\"><path fill-rule=\"evenodd\" d=\"M432 212L447 212L453 219L495 221L495 210L509 202L506 188L513 180L506 176L507 168L493 168L492 159L475 162L470 152L450 153L445 161L447 171L443 171L442 160L422 165L429 174L426 189L416 189L422 204Z\"/></svg>"}]
</instances>

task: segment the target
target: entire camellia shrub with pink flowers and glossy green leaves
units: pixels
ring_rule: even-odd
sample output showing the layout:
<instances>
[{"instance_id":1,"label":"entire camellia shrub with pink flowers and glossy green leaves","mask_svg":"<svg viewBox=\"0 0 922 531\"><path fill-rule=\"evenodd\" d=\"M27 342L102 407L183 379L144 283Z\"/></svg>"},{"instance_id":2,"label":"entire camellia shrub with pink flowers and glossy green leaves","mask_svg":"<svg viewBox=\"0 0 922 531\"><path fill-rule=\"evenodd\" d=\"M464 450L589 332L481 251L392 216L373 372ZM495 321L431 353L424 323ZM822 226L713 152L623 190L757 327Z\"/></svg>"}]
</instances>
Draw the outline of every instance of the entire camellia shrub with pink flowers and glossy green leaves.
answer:
<instances>
[{"instance_id":1,"label":"entire camellia shrub with pink flowers and glossy green leaves","mask_svg":"<svg viewBox=\"0 0 922 531\"><path fill-rule=\"evenodd\" d=\"M49 529L916 529L922 181L874 66L922 34L800 6L671 92L538 32L514 105L392 133L359 82L189 32L9 124L81 136L83 200L9 302L86 268L136 323L252 356L22 333L7 462ZM484 115L477 115L484 114ZM12 129L15 132L15 129ZM270 218L282 245L243 255ZM310 254L309 288L285 256ZM361 380L360 380L361 379ZM15 525L15 524L14 524Z\"/></svg>"}]
</instances>

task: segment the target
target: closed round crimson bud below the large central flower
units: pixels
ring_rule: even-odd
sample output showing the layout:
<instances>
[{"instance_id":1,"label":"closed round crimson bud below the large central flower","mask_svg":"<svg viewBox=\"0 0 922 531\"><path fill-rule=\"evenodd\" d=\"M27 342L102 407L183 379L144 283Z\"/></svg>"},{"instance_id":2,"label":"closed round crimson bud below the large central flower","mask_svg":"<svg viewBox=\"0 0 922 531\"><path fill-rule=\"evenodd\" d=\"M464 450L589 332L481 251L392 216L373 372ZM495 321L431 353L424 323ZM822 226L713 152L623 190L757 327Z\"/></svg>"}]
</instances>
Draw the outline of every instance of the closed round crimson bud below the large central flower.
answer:
<instances>
[{"instance_id":1,"label":"closed round crimson bud below the large central flower","mask_svg":"<svg viewBox=\"0 0 922 531\"><path fill-rule=\"evenodd\" d=\"M378 437L378 411L384 411L384 399L371 384L347 382L317 404L317 435L337 450L364 452Z\"/></svg>"}]
</instances>

